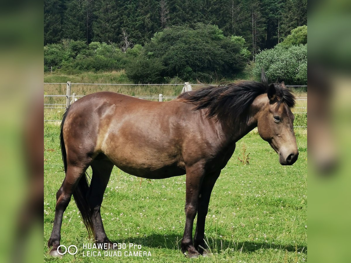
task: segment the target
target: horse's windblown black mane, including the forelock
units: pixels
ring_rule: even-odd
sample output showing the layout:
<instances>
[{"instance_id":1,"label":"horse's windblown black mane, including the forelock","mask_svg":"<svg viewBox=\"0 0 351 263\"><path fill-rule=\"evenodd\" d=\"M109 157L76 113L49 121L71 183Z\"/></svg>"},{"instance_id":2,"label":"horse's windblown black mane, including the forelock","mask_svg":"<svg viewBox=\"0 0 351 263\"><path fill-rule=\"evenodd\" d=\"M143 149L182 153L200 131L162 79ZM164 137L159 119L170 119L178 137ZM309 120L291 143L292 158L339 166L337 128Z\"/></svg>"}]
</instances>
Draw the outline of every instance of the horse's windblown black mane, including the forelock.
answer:
<instances>
[{"instance_id":1,"label":"horse's windblown black mane, including the forelock","mask_svg":"<svg viewBox=\"0 0 351 263\"><path fill-rule=\"evenodd\" d=\"M275 85L279 103L285 102L290 108L295 105L291 91L278 83ZM239 81L226 86L205 87L178 96L178 100L194 104L193 110L208 109L206 116L217 117L220 121L232 123L249 117L253 100L260 94L267 93L269 84L256 81ZM246 115L245 115L246 114Z\"/></svg>"}]
</instances>

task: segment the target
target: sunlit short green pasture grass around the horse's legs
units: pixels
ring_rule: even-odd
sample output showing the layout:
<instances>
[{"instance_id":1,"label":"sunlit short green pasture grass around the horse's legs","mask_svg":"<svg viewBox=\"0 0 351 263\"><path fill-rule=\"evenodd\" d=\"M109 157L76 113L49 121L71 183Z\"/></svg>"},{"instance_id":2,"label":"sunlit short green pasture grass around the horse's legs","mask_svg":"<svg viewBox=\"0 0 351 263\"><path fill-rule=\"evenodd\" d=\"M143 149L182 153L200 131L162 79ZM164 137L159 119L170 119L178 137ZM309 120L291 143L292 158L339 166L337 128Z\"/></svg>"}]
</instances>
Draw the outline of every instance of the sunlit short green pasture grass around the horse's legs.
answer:
<instances>
[{"instance_id":1,"label":"sunlit short green pasture grass around the horse's legs","mask_svg":"<svg viewBox=\"0 0 351 263\"><path fill-rule=\"evenodd\" d=\"M273 149L255 132L237 149L214 186L206 220L206 241L213 256L187 259L179 250L185 223L185 176L143 180L114 168L101 215L107 236L119 243L142 245L151 257L83 257L82 243L92 242L71 200L65 211L61 244L75 244L74 256L52 258L51 234L55 194L64 179L59 126L44 126L45 262L306 262L307 138L297 133L299 159L281 166ZM242 164L242 146L250 164ZM91 173L91 171L89 171ZM129 249L127 249L129 250ZM137 251L132 249L132 251ZM102 252L103 253L103 252Z\"/></svg>"}]
</instances>

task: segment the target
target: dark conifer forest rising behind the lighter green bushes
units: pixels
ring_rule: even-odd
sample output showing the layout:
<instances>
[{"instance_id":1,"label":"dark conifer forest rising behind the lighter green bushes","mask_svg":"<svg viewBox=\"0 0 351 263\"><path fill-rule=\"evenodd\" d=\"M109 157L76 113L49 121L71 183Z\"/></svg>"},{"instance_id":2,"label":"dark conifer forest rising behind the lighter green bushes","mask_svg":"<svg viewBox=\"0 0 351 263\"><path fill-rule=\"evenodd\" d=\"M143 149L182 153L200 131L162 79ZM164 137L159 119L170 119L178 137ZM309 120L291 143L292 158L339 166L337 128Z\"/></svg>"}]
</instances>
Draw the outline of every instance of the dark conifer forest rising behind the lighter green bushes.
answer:
<instances>
[{"instance_id":1,"label":"dark conifer forest rising behind the lighter green bushes","mask_svg":"<svg viewBox=\"0 0 351 263\"><path fill-rule=\"evenodd\" d=\"M307 24L307 0L45 0L44 45L61 39L119 44L122 29L144 45L166 27L197 22L243 36L254 55Z\"/></svg>"}]
</instances>

